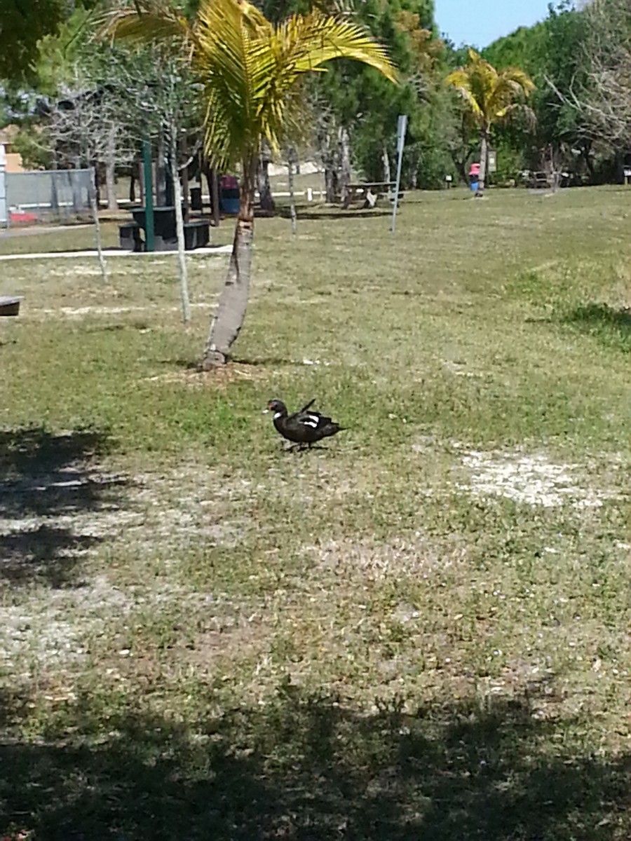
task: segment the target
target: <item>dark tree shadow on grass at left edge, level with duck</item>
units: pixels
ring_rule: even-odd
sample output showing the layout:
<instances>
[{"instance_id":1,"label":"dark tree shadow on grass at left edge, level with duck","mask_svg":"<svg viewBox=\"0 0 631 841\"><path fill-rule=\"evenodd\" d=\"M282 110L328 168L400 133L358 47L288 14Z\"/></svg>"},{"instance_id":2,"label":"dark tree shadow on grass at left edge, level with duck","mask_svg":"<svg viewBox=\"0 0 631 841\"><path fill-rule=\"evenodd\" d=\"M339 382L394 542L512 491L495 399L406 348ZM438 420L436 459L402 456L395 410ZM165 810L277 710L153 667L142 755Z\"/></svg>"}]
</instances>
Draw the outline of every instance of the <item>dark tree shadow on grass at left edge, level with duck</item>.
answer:
<instances>
[{"instance_id":1,"label":"dark tree shadow on grass at left edge, level with duck","mask_svg":"<svg viewBox=\"0 0 631 841\"><path fill-rule=\"evenodd\" d=\"M78 558L99 540L77 532L77 518L119 509L126 480L91 466L108 449L103 431L0 430L0 580L68 583Z\"/></svg>"}]
</instances>

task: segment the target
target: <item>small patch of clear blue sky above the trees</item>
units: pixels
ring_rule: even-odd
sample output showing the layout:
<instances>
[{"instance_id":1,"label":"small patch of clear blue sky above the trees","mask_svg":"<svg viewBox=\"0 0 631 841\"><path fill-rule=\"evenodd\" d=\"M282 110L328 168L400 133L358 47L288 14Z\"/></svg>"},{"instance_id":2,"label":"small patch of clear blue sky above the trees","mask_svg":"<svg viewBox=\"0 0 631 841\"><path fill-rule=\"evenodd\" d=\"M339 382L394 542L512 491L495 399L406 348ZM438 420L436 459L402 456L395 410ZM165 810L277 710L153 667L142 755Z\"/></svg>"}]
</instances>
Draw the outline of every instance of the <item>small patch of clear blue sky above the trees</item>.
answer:
<instances>
[{"instance_id":1,"label":"small patch of clear blue sky above the trees","mask_svg":"<svg viewBox=\"0 0 631 841\"><path fill-rule=\"evenodd\" d=\"M549 0L435 0L438 29L456 46L485 47L518 26L548 17Z\"/></svg>"}]
</instances>

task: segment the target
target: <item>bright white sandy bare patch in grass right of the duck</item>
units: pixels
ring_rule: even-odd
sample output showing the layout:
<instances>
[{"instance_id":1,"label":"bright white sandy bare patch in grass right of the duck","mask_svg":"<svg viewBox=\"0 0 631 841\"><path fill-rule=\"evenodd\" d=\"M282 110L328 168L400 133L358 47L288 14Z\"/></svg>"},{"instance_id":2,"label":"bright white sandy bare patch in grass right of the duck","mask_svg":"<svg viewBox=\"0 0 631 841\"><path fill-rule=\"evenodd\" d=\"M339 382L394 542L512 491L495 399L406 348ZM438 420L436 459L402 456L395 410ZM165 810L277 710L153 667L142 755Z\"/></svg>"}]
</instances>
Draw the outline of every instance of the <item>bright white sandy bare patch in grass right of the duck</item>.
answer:
<instances>
[{"instance_id":1,"label":"bright white sandy bare patch in grass right of the duck","mask_svg":"<svg viewBox=\"0 0 631 841\"><path fill-rule=\"evenodd\" d=\"M576 509L599 508L606 500L622 499L615 491L586 487L581 464L554 463L543 453L469 450L462 455L462 465L470 472L469 484L457 487L475 496L504 496L546 508L570 504Z\"/></svg>"}]
</instances>

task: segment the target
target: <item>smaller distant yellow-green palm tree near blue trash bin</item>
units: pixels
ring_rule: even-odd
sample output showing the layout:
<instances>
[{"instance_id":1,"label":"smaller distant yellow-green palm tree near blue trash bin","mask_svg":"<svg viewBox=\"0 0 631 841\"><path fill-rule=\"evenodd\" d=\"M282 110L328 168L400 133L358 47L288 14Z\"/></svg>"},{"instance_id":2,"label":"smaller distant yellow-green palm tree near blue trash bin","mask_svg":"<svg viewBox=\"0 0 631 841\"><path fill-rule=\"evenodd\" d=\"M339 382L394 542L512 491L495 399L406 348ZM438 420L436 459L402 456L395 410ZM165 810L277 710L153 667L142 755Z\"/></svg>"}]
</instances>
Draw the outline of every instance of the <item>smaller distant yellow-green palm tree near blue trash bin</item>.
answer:
<instances>
[{"instance_id":1,"label":"smaller distant yellow-green palm tree near blue trash bin","mask_svg":"<svg viewBox=\"0 0 631 841\"><path fill-rule=\"evenodd\" d=\"M534 83L518 67L496 71L475 50L469 50L469 64L449 73L445 82L459 92L470 117L480 130L478 193L481 194L485 188L490 130L494 124L519 111L533 117L533 112L522 100L534 90Z\"/></svg>"}]
</instances>

